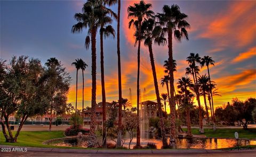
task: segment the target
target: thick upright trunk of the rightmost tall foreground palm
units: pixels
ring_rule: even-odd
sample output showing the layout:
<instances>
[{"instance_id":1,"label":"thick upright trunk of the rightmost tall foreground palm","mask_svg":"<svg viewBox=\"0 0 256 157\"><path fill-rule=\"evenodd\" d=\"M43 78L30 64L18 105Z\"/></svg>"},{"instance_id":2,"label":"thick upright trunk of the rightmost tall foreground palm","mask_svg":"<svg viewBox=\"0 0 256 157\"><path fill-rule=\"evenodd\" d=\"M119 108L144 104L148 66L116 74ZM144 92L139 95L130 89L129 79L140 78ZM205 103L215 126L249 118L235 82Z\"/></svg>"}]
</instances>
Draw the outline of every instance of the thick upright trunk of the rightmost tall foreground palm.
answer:
<instances>
[{"instance_id":1,"label":"thick upright trunk of the rightmost tall foreground palm","mask_svg":"<svg viewBox=\"0 0 256 157\"><path fill-rule=\"evenodd\" d=\"M170 143L169 146L172 149L176 147L176 129L175 129L175 100L174 100L174 75L173 75L173 57L172 57L172 29L168 30L168 55L169 55L169 72L170 72L170 116L171 116L171 128L170 128Z\"/></svg>"}]
</instances>

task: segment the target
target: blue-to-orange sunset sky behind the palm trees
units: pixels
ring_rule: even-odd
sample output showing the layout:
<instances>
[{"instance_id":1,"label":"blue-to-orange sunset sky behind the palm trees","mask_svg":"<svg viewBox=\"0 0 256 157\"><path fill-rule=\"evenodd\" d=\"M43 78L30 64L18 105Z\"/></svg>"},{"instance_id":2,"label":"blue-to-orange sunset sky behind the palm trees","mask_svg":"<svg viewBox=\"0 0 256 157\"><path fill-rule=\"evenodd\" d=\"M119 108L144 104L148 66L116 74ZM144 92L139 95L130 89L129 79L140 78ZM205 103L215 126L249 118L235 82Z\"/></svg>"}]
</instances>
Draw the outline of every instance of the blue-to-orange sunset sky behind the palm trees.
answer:
<instances>
[{"instance_id":1,"label":"blue-to-orange sunset sky behind the palm trees","mask_svg":"<svg viewBox=\"0 0 256 157\"><path fill-rule=\"evenodd\" d=\"M123 98L136 105L137 47L134 47L134 29L128 28L127 7L139 1L121 1L121 66ZM220 96L214 96L215 107L232 98L245 100L256 97L256 1L145 1L155 13L163 5L178 4L188 15L189 40L173 40L173 58L177 60L174 86L185 75L186 57L198 53L215 60L210 67L211 80L217 83ZM85 106L91 106L91 51L84 41L87 30L71 33L76 23L74 14L82 10L85 1L0 1L0 57L27 55L39 58L44 64L56 57L72 77L68 102L75 104L76 69L71 63L82 58L89 66L85 69ZM117 12L117 5L111 6ZM111 24L116 29L117 22ZM100 44L97 34L97 102L101 102ZM104 40L105 86L107 101L118 99L116 38ZM157 81L160 93L164 76L163 63L167 60L167 45L153 46ZM156 100L148 47L141 46L140 89L141 101ZM200 74L206 74L203 67ZM78 75L78 108L82 108L82 71ZM190 76L191 77L191 76ZM132 99L129 88L131 88ZM145 92L144 92L145 91ZM196 102L195 102L196 103ZM201 98L203 103L203 98ZM167 111L170 109L167 108Z\"/></svg>"}]
</instances>

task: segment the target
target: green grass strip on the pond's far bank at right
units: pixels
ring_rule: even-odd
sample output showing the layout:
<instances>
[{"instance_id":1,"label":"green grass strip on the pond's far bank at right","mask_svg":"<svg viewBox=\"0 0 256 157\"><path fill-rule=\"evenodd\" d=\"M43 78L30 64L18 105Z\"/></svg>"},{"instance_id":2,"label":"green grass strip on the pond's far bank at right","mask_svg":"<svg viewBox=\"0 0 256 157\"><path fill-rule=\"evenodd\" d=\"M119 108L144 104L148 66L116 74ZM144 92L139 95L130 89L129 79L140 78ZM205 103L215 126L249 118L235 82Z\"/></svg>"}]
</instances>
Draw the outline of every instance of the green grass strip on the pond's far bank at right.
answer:
<instances>
[{"instance_id":1,"label":"green grass strip on the pond's far bank at right","mask_svg":"<svg viewBox=\"0 0 256 157\"><path fill-rule=\"evenodd\" d=\"M186 128L183 130L187 131ZM242 128L218 128L215 132L213 129L205 128L204 134L199 133L196 128L192 129L192 134L205 135L206 137L223 137L223 138L235 138L235 132L239 134L239 138L256 139L256 129L244 130Z\"/></svg>"}]
</instances>

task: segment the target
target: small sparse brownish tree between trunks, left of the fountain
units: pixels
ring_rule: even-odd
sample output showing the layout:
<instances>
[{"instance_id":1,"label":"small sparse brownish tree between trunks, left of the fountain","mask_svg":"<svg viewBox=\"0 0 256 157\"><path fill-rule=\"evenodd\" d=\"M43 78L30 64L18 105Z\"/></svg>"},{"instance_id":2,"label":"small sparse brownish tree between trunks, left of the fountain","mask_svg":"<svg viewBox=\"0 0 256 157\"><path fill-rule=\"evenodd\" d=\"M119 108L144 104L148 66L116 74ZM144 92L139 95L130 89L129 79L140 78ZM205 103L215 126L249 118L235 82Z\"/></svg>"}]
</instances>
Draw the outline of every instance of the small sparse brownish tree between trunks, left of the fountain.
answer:
<instances>
[{"instance_id":1,"label":"small sparse brownish tree between trunks, left of the fountain","mask_svg":"<svg viewBox=\"0 0 256 157\"><path fill-rule=\"evenodd\" d=\"M132 108L131 110L126 109L125 116L124 116L124 129L130 135L129 149L133 139L133 130L137 127L137 124L139 123L137 116L134 113L135 110L136 108Z\"/></svg>"}]
</instances>

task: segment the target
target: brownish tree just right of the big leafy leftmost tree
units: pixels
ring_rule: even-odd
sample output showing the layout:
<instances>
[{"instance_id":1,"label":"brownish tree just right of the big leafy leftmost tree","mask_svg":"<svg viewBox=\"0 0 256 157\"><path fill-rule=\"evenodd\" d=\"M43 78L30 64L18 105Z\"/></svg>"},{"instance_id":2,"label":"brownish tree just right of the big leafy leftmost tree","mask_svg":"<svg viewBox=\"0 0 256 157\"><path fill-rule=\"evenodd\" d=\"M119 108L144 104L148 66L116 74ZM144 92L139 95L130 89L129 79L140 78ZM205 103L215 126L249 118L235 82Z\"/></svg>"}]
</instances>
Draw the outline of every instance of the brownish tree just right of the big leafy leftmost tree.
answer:
<instances>
[{"instance_id":1,"label":"brownish tree just right of the big leafy leftmost tree","mask_svg":"<svg viewBox=\"0 0 256 157\"><path fill-rule=\"evenodd\" d=\"M47 93L50 97L49 132L51 132L52 114L65 113L71 77L58 59L50 58L45 63L45 73L42 80L47 86Z\"/></svg>"}]
</instances>

